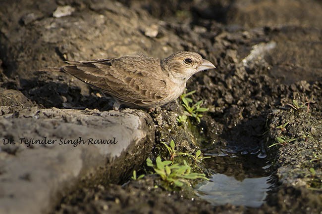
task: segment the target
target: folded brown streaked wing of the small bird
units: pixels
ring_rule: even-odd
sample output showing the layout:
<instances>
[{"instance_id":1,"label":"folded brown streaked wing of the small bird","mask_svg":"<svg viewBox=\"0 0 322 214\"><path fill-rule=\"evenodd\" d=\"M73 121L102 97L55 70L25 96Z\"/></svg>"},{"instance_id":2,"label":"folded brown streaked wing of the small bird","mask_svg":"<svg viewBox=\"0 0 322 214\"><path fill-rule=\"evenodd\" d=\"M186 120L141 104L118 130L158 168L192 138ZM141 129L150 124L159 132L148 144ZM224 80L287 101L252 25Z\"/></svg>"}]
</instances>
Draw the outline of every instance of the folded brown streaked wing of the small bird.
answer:
<instances>
[{"instance_id":1,"label":"folded brown streaked wing of the small bird","mask_svg":"<svg viewBox=\"0 0 322 214\"><path fill-rule=\"evenodd\" d=\"M142 56L68 62L64 71L124 102L151 106L166 96L160 60Z\"/></svg>"}]
</instances>

